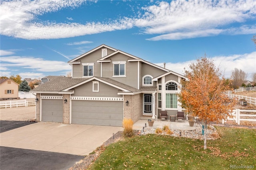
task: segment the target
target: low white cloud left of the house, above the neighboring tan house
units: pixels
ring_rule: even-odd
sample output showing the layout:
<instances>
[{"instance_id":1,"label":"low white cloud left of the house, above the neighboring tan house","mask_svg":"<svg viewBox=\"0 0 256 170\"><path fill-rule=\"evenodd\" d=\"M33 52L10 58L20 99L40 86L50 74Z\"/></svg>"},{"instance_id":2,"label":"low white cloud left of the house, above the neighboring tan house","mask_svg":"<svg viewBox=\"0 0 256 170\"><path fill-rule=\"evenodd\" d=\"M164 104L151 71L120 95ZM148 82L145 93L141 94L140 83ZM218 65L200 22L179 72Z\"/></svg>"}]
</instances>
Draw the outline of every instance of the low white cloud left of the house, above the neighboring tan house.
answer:
<instances>
[{"instance_id":1,"label":"low white cloud left of the house, above the neighboring tan house","mask_svg":"<svg viewBox=\"0 0 256 170\"><path fill-rule=\"evenodd\" d=\"M10 56L1 57L1 65L4 67L21 67L33 71L62 71L71 70L71 66L63 61L50 61L42 58Z\"/></svg>"}]
</instances>

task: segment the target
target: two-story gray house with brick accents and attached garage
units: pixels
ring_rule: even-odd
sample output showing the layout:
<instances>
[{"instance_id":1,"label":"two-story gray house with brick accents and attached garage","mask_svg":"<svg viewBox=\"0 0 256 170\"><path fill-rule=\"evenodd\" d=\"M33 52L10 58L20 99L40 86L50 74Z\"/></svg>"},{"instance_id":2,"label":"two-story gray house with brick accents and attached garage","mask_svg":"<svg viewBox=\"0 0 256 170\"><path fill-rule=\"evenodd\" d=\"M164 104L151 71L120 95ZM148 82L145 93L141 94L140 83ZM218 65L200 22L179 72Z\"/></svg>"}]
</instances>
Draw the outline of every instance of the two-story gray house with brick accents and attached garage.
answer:
<instances>
[{"instance_id":1,"label":"two-story gray house with brick accents and attached garage","mask_svg":"<svg viewBox=\"0 0 256 170\"><path fill-rule=\"evenodd\" d=\"M142 116L181 111L177 101L183 75L134 55L100 45L70 61L72 77L57 77L36 93L37 121L122 126ZM168 118L170 119L170 117Z\"/></svg>"}]
</instances>

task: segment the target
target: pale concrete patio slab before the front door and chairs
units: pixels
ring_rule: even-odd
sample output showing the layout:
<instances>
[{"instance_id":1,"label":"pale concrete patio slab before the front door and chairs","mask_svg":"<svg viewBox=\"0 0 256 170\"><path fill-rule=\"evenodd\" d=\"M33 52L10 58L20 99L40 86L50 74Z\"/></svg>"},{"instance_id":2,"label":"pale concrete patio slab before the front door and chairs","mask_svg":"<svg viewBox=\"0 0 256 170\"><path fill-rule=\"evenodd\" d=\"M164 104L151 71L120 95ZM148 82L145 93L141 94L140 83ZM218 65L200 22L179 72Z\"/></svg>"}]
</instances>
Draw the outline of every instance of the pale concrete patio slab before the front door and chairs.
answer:
<instances>
[{"instance_id":1,"label":"pale concrete patio slab before the front door and chairs","mask_svg":"<svg viewBox=\"0 0 256 170\"><path fill-rule=\"evenodd\" d=\"M146 120L139 120L133 125L134 130L142 130L143 127L145 127L145 123L148 127L148 121ZM156 128L162 128L164 125L168 125L170 129L177 129L177 130L196 130L196 126L190 127L187 120L185 122L183 121L176 121L176 122L170 122L170 120L166 121L154 121L153 127Z\"/></svg>"}]
</instances>

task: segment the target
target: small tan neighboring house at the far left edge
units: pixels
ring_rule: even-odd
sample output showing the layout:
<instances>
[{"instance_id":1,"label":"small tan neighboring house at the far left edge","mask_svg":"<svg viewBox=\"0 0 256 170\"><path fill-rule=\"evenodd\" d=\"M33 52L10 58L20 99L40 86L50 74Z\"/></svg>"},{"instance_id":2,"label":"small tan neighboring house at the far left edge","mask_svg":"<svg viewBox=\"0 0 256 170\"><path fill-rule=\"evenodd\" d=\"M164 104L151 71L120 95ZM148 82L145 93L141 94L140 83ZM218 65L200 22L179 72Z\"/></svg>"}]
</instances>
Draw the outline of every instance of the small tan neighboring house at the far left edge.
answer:
<instances>
[{"instance_id":1,"label":"small tan neighboring house at the far left edge","mask_svg":"<svg viewBox=\"0 0 256 170\"><path fill-rule=\"evenodd\" d=\"M19 84L12 79L0 79L0 99L18 98Z\"/></svg>"}]
</instances>

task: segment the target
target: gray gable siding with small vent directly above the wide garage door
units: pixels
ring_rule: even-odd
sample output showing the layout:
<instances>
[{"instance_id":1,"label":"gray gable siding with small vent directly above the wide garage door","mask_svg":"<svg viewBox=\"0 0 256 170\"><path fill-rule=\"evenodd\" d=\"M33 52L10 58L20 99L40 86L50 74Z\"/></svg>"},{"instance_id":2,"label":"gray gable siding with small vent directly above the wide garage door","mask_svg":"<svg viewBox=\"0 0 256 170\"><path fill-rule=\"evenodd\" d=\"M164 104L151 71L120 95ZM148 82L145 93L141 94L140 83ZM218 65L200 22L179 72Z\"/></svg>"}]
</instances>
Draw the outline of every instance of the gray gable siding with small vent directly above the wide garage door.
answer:
<instances>
[{"instance_id":1,"label":"gray gable siding with small vent directly above the wide garage door","mask_svg":"<svg viewBox=\"0 0 256 170\"><path fill-rule=\"evenodd\" d=\"M79 87L74 89L74 94L71 96L80 97L123 97L122 95L117 95L118 89L107 85L105 83L99 82L99 92L92 92L92 81L89 81Z\"/></svg>"}]
</instances>

